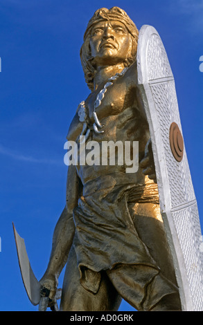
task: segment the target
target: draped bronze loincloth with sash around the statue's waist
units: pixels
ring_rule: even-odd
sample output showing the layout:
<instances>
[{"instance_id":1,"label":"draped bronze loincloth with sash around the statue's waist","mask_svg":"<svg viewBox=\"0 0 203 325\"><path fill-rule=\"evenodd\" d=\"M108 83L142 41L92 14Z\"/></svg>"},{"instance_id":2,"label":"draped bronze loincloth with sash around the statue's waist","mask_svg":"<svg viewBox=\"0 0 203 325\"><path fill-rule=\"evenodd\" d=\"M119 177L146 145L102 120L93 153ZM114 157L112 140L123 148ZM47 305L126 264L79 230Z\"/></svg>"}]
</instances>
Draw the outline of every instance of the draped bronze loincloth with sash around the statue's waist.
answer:
<instances>
[{"instance_id":1,"label":"draped bronze loincloth with sash around the statue's waist","mask_svg":"<svg viewBox=\"0 0 203 325\"><path fill-rule=\"evenodd\" d=\"M81 196L73 210L76 225L73 246L80 281L93 293L99 288L100 271L112 270L118 264L141 264L159 270L134 228L128 210L132 202L158 204L157 185L109 182L108 189L98 186L96 192Z\"/></svg>"}]
</instances>

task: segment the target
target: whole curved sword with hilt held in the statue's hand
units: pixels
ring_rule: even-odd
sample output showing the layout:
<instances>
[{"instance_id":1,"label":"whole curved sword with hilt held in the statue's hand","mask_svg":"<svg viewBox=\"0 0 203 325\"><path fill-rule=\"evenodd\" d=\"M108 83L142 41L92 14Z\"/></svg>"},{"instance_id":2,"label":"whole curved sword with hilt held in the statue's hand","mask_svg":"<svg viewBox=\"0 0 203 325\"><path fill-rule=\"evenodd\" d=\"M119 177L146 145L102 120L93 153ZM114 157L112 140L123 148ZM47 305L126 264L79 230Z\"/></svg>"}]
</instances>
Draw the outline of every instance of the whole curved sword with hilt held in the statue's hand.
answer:
<instances>
[{"instance_id":1,"label":"whole curved sword with hilt held in the statue's hand","mask_svg":"<svg viewBox=\"0 0 203 325\"><path fill-rule=\"evenodd\" d=\"M42 288L41 284L35 277L34 272L30 266L24 239L21 238L21 236L19 236L17 233L14 223L12 223L12 228L15 236L15 244L17 248L17 257L19 261L21 277L28 298L34 306L39 305L39 311L46 311L48 303L51 302L51 300L48 298L49 290ZM56 290L55 299L53 300L53 304L51 304L50 307L53 311L58 311L58 304L56 300L61 298L61 292L62 289Z\"/></svg>"}]
</instances>

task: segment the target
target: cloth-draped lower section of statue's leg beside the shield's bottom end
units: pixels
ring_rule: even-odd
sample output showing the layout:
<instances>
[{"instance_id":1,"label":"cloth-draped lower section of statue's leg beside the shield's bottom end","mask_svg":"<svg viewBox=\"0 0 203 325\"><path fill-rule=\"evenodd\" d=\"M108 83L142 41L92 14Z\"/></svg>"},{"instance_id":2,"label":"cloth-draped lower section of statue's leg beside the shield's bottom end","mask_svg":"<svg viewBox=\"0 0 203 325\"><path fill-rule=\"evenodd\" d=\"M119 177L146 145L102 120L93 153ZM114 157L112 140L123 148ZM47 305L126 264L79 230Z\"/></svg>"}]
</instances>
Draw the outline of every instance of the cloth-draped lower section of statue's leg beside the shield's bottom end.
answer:
<instances>
[{"instance_id":1,"label":"cloth-draped lower section of statue's leg beside the shield's bottom end","mask_svg":"<svg viewBox=\"0 0 203 325\"><path fill-rule=\"evenodd\" d=\"M136 310L182 310L177 287L151 266L120 264L107 270L107 275Z\"/></svg>"}]
</instances>

